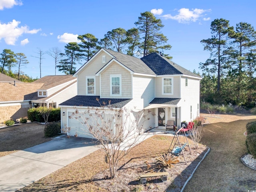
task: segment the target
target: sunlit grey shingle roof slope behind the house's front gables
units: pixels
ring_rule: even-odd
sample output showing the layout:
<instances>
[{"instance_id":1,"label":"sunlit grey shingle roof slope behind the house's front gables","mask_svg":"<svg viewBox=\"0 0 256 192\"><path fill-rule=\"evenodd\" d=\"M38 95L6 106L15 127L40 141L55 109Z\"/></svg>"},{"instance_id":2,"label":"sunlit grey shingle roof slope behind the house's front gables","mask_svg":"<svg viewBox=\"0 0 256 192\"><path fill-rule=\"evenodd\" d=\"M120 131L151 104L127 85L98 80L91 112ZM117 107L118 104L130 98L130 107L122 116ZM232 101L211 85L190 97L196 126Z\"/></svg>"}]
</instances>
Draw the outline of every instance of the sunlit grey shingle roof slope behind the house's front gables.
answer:
<instances>
[{"instance_id":1,"label":"sunlit grey shingle roof slope behind the house's front gables","mask_svg":"<svg viewBox=\"0 0 256 192\"><path fill-rule=\"evenodd\" d=\"M123 53L119 53L116 51L104 49L106 52L114 56L118 62L122 63L124 66L132 70L134 73L141 73L141 74L149 74L149 75L156 75L142 60L139 58L126 55Z\"/></svg>"}]
</instances>

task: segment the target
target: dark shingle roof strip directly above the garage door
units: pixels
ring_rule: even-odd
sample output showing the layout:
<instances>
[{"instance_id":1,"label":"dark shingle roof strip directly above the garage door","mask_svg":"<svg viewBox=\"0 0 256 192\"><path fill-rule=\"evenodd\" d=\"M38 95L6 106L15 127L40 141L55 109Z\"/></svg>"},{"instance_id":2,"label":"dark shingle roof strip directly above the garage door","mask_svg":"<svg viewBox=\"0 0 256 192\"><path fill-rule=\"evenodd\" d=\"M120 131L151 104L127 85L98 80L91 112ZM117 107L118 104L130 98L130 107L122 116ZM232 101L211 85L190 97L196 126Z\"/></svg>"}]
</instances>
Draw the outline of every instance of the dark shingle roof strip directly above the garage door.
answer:
<instances>
[{"instance_id":1,"label":"dark shingle roof strip directly above the garage door","mask_svg":"<svg viewBox=\"0 0 256 192\"><path fill-rule=\"evenodd\" d=\"M96 98L99 99L99 102L96 100ZM88 107L100 107L101 105L104 106L104 103L106 106L108 106L110 101L111 107L121 108L124 107L128 102L130 102L132 99L106 99L106 98L100 98L100 96L82 96L77 95L73 98L70 98L69 100L64 101L63 103L59 104L62 106L88 106Z\"/></svg>"}]
</instances>

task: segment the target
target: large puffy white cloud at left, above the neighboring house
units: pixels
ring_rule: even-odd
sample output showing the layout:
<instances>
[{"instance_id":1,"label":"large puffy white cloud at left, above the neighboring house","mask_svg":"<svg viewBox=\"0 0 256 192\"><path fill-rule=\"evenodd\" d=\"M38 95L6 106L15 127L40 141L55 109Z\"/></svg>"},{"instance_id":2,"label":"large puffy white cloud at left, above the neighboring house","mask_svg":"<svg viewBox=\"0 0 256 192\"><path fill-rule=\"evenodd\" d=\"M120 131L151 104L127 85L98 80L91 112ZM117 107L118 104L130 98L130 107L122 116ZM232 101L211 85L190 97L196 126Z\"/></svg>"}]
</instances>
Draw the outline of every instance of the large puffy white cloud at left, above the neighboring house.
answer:
<instances>
[{"instance_id":1,"label":"large puffy white cloud at left, above the neighboring house","mask_svg":"<svg viewBox=\"0 0 256 192\"><path fill-rule=\"evenodd\" d=\"M18 37L22 36L24 33L35 34L41 29L29 30L28 26L18 27L20 21L12 20L12 22L0 23L0 40L3 38L6 44L15 45Z\"/></svg>"}]
</instances>

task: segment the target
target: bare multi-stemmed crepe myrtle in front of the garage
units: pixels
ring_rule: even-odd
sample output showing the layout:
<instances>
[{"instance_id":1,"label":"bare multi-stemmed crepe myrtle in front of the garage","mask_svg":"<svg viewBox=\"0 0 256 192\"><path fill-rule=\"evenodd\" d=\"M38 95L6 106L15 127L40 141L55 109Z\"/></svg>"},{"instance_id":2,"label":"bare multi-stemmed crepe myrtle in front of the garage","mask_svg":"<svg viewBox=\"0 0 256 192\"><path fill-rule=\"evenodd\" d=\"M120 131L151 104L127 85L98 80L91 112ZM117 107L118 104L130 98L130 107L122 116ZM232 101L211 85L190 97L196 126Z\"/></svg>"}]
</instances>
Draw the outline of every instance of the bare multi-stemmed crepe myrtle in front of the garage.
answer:
<instances>
[{"instance_id":1,"label":"bare multi-stemmed crepe myrtle in front of the garage","mask_svg":"<svg viewBox=\"0 0 256 192\"><path fill-rule=\"evenodd\" d=\"M145 138L145 134L140 134L144 123L155 114L150 110L134 112L127 108L114 108L110 102L103 102L100 107L88 107L83 111L74 107L74 112L68 118L78 120L82 124L82 130L94 137L94 142L104 149L110 178L115 178L119 160L138 145L140 139ZM65 131L69 133L70 127L66 126ZM78 136L78 133L74 136Z\"/></svg>"}]
</instances>

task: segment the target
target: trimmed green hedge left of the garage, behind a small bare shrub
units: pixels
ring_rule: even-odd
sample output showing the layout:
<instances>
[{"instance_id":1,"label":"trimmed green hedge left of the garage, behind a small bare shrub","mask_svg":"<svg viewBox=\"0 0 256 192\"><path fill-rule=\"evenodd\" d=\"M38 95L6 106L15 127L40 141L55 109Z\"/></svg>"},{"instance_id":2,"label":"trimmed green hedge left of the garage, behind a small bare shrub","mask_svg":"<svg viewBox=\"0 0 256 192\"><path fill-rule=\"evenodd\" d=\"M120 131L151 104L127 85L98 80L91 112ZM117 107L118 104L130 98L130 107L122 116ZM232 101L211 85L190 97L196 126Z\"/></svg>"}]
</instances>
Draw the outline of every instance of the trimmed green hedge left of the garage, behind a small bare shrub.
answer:
<instances>
[{"instance_id":1,"label":"trimmed green hedge left of the garage, behind a small bare shrub","mask_svg":"<svg viewBox=\"0 0 256 192\"><path fill-rule=\"evenodd\" d=\"M57 122L60 121L60 108L50 108L46 109L46 107L38 107L31 108L28 110L28 120L31 122L44 122L44 118L42 116L43 112L50 111L50 115L48 117L48 122Z\"/></svg>"}]
</instances>

